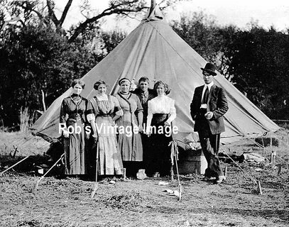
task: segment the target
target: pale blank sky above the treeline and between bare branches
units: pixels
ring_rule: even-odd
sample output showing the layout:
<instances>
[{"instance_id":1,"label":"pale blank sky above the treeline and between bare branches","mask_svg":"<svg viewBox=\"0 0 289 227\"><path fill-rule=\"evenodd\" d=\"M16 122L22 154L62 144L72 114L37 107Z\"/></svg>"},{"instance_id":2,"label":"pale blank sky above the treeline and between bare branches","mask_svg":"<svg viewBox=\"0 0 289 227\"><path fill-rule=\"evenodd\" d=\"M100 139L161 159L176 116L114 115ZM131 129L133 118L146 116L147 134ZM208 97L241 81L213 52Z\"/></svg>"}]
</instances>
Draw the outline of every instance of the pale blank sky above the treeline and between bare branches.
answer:
<instances>
[{"instance_id":1,"label":"pale blank sky above the treeline and between bare branches","mask_svg":"<svg viewBox=\"0 0 289 227\"><path fill-rule=\"evenodd\" d=\"M88 0L91 4L92 12L101 12L108 6L109 0ZM148 6L151 0L146 0ZM160 0L156 0L158 4ZM72 9L68 13L65 21L65 28L69 28L73 23L84 21L84 16L80 13L80 5L84 0L75 0L72 3ZM60 13L65 7L66 1L55 0L57 12ZM179 1L175 5L175 9L165 11L167 21L172 19L178 20L182 13L190 13L190 11L203 11L208 16L212 16L217 24L226 26L233 24L239 28L248 28L251 21L258 22L263 28L274 26L278 31L284 31L289 28L289 1L283 0L185 0ZM58 15L57 15L58 16ZM121 21L115 21L114 16L109 16L103 22L104 30L114 30L120 28L126 32L132 31L138 26L140 21L127 18Z\"/></svg>"}]
</instances>

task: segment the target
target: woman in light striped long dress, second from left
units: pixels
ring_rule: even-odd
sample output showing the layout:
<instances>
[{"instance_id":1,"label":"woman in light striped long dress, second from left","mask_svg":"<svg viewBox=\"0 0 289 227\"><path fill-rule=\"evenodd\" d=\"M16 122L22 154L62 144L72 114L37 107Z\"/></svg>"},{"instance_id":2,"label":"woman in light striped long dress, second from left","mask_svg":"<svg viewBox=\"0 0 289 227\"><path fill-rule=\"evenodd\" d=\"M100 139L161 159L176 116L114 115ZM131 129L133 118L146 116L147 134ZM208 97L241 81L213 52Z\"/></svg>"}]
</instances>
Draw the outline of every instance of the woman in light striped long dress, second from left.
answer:
<instances>
[{"instance_id":1,"label":"woman in light striped long dress, second from left","mask_svg":"<svg viewBox=\"0 0 289 227\"><path fill-rule=\"evenodd\" d=\"M107 84L99 80L94 84L97 95L87 105L87 120L91 123L93 137L97 138L99 153L98 175L121 175L121 153L116 141L114 121L123 115L116 97L107 95Z\"/></svg>"}]
</instances>

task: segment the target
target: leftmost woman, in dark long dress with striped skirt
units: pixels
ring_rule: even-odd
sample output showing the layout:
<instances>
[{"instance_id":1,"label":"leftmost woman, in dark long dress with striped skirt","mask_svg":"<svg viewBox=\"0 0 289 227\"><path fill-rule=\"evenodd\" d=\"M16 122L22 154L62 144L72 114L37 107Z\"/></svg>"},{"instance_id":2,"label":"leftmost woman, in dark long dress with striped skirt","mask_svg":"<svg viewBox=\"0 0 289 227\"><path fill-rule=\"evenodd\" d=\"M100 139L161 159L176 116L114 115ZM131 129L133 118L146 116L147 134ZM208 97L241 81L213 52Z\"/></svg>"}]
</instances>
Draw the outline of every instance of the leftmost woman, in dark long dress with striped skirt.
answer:
<instances>
[{"instance_id":1,"label":"leftmost woman, in dark long dress with striped skirt","mask_svg":"<svg viewBox=\"0 0 289 227\"><path fill-rule=\"evenodd\" d=\"M73 94L63 99L60 108L60 124L63 128L65 150L65 175L87 174L87 163L84 151L84 112L87 99L80 96L84 82L74 79Z\"/></svg>"}]
</instances>

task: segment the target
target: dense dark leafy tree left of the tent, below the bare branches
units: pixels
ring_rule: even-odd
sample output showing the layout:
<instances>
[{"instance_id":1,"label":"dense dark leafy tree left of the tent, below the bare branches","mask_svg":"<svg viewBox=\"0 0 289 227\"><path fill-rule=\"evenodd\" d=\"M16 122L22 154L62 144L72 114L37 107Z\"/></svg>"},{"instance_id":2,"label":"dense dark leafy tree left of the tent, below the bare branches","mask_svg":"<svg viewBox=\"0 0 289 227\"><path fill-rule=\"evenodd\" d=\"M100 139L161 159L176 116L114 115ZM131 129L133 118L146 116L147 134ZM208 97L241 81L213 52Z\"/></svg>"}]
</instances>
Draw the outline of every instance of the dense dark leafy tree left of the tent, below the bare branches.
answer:
<instances>
[{"instance_id":1,"label":"dense dark leafy tree left of the tent, below the bare branches","mask_svg":"<svg viewBox=\"0 0 289 227\"><path fill-rule=\"evenodd\" d=\"M42 109L102 59L85 45L67 43L52 28L9 28L0 46L0 102L6 124L18 122L21 106Z\"/></svg>"}]
</instances>

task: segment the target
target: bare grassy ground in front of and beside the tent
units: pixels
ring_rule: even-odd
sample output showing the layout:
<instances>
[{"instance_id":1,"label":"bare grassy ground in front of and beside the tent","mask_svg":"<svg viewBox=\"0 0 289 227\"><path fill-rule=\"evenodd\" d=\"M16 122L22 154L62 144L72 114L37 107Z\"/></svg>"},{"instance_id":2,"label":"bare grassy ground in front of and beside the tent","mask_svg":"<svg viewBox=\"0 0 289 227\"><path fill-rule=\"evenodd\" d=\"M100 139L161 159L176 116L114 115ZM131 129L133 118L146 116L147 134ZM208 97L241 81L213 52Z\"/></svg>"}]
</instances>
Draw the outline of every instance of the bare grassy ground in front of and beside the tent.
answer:
<instances>
[{"instance_id":1,"label":"bare grassy ground in front of and beside the tent","mask_svg":"<svg viewBox=\"0 0 289 227\"><path fill-rule=\"evenodd\" d=\"M288 134L281 136L288 143L284 138ZM13 143L22 143L21 137L0 133L0 141L6 142L6 150L0 142L1 170L5 169L6 155L14 149ZM29 141L22 147L36 154L45 151L44 145L38 146L42 140ZM249 141L230 149L267 153ZM224 184L202 182L195 174L181 176L180 201L163 192L177 190L177 180L158 185L160 181L169 182L169 178L114 179L115 184L103 179L91 199L94 182L45 177L35 191L40 177L11 170L0 177L0 226L289 226L288 147L279 145L274 149L283 160L278 162L282 165L279 175L279 169L270 165L244 163L240 170L235 164L224 164L228 167ZM17 155L22 155L21 150L18 145ZM253 183L256 179L261 182L262 195Z\"/></svg>"}]
</instances>

